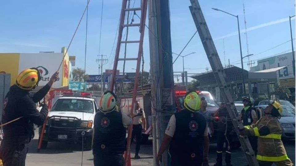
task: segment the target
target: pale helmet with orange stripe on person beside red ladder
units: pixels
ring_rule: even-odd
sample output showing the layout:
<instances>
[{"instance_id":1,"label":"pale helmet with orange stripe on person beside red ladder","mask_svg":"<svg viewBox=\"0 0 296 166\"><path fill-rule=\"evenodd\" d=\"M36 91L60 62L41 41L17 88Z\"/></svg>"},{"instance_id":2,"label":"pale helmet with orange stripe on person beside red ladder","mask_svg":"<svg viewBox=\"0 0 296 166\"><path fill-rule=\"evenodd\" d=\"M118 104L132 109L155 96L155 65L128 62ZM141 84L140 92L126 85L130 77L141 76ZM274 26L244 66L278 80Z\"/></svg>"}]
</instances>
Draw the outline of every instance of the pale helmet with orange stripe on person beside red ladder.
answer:
<instances>
[{"instance_id":1,"label":"pale helmet with orange stripe on person beside red ladder","mask_svg":"<svg viewBox=\"0 0 296 166\"><path fill-rule=\"evenodd\" d=\"M116 95L111 91L106 91L101 97L99 110L102 113L110 113L117 108L116 105Z\"/></svg>"}]
</instances>

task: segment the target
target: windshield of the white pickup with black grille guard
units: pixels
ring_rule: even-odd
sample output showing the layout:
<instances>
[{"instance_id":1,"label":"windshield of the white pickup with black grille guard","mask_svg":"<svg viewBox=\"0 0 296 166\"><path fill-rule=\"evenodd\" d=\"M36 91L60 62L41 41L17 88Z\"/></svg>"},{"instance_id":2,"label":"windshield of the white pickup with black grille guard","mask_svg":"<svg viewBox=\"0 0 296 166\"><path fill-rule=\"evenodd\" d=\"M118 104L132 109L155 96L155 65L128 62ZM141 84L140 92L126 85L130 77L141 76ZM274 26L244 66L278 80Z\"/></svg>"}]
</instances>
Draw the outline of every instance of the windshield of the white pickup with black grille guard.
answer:
<instances>
[{"instance_id":1,"label":"windshield of the white pickup with black grille guard","mask_svg":"<svg viewBox=\"0 0 296 166\"><path fill-rule=\"evenodd\" d=\"M74 111L93 113L93 102L82 99L58 99L53 105L51 111Z\"/></svg>"}]
</instances>

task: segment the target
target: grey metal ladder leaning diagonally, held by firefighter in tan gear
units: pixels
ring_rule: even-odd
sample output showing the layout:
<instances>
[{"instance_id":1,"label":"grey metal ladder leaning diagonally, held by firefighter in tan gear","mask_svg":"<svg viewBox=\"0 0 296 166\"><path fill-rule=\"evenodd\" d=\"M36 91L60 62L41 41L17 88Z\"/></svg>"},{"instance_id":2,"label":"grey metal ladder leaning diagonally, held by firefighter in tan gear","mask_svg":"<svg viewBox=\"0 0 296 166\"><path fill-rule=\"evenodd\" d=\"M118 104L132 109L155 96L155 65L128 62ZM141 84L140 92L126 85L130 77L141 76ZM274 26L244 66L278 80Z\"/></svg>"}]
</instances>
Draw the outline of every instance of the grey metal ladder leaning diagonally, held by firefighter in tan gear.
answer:
<instances>
[{"instance_id":1,"label":"grey metal ladder leaning diagonally, held by firefighter in tan gear","mask_svg":"<svg viewBox=\"0 0 296 166\"><path fill-rule=\"evenodd\" d=\"M226 108L228 110L229 116L232 119L232 124L234 125L236 134L241 142L241 145L245 151L245 155L250 166L259 166L256 159L255 153L251 147L248 137L240 136L240 130L244 128L240 117L236 111L233 103L232 96L230 95L229 89L226 84L226 73L224 71L223 65L218 56L214 41L212 40L210 31L208 30L207 23L205 21L204 15L199 6L198 0L190 0L191 5L189 9L192 14L195 26L198 30L199 37L204 46L205 52L207 54L208 60L213 70L213 74L216 78L217 84L220 88L222 97L226 103Z\"/></svg>"}]
</instances>

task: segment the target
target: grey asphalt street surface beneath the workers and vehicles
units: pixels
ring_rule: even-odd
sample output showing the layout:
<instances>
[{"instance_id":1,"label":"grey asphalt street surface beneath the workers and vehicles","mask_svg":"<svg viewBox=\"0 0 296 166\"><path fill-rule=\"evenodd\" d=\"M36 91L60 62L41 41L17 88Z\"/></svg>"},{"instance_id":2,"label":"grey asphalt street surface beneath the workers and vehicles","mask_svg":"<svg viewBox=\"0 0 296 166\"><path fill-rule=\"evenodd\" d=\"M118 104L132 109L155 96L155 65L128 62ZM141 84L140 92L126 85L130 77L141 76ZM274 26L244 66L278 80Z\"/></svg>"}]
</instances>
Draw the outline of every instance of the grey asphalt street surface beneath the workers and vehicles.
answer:
<instances>
[{"instance_id":1,"label":"grey asphalt street surface beneath the workers and vehicles","mask_svg":"<svg viewBox=\"0 0 296 166\"><path fill-rule=\"evenodd\" d=\"M83 166L93 165L92 151L84 151L82 155L81 144L68 144L66 142L50 142L47 149L42 149L37 153L38 133L35 139L30 143L30 149L27 155L26 165L29 166ZM285 148L290 159L295 163L295 140L285 141ZM131 156L134 157L135 145L131 147ZM153 166L153 152L152 142L141 146L140 154L142 158L135 160L132 158L132 165ZM216 163L216 144L210 144L209 165L212 166ZM232 164L240 166L247 163L244 152L242 149L232 151Z\"/></svg>"}]
</instances>

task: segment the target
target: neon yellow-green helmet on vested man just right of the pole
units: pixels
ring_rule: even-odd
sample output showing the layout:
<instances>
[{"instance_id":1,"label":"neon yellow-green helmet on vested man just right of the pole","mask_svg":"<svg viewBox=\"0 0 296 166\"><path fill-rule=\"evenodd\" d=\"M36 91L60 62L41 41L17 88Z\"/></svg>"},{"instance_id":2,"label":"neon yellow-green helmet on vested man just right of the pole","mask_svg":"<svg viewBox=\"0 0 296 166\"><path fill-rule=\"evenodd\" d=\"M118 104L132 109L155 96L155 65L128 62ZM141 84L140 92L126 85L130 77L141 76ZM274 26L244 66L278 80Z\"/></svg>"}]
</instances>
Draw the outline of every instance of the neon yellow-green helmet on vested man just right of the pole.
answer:
<instances>
[{"instance_id":1,"label":"neon yellow-green helmet on vested man just right of the pole","mask_svg":"<svg viewBox=\"0 0 296 166\"><path fill-rule=\"evenodd\" d=\"M196 112L200 109L201 100L195 91L188 92L184 98L184 107L189 111Z\"/></svg>"}]
</instances>

